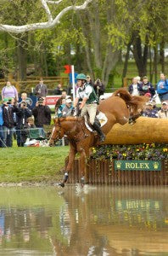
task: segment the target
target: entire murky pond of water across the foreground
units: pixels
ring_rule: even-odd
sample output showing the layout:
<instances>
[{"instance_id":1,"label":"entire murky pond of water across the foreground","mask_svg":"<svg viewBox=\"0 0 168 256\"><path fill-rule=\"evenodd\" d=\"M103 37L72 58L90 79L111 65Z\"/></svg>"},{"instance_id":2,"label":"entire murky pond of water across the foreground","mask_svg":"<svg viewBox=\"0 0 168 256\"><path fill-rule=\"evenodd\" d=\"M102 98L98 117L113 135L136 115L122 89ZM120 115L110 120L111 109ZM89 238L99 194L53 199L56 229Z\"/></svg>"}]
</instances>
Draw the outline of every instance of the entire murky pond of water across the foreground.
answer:
<instances>
[{"instance_id":1,"label":"entire murky pond of water across the foreground","mask_svg":"<svg viewBox=\"0 0 168 256\"><path fill-rule=\"evenodd\" d=\"M168 188L0 188L0 255L168 255Z\"/></svg>"}]
</instances>

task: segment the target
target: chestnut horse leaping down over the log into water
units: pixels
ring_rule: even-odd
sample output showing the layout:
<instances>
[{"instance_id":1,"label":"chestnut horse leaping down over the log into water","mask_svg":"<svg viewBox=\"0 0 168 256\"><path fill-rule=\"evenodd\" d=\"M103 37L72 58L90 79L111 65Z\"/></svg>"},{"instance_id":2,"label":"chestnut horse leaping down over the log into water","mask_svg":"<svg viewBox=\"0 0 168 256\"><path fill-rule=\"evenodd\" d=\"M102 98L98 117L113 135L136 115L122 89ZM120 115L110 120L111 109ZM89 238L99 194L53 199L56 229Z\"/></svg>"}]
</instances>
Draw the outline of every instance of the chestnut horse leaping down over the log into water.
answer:
<instances>
[{"instance_id":1,"label":"chestnut horse leaping down over the log into water","mask_svg":"<svg viewBox=\"0 0 168 256\"><path fill-rule=\"evenodd\" d=\"M132 109L132 114L138 117L138 111L143 108L146 101L144 96L131 96L127 90L119 89L112 96L100 102L98 110L105 113L108 118L107 123L102 127L104 134L107 134L116 123L125 125L131 116L130 109ZM59 183L62 187L68 179L68 173L72 169L76 153L80 154L81 183L84 183L89 148L98 145L98 136L95 136L94 132L88 131L85 120L81 117L70 116L54 119L49 145L52 146L55 141L61 139L64 135L69 139L70 153L64 179Z\"/></svg>"}]
</instances>

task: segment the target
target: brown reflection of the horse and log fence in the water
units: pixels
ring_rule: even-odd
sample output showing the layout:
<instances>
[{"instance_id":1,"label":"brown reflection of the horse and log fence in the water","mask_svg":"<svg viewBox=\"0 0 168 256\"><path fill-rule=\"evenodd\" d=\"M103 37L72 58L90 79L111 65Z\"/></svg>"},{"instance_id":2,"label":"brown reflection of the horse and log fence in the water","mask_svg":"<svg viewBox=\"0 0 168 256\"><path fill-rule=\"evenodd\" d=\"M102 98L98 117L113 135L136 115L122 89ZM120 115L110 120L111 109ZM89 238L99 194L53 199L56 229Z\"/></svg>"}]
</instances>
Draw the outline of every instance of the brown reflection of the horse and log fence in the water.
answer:
<instances>
[{"instance_id":1,"label":"brown reflection of the horse and log fence in the water","mask_svg":"<svg viewBox=\"0 0 168 256\"><path fill-rule=\"evenodd\" d=\"M67 187L59 218L63 237L51 236L54 252L63 256L167 255L166 192L100 186L79 196L75 187Z\"/></svg>"}]
</instances>

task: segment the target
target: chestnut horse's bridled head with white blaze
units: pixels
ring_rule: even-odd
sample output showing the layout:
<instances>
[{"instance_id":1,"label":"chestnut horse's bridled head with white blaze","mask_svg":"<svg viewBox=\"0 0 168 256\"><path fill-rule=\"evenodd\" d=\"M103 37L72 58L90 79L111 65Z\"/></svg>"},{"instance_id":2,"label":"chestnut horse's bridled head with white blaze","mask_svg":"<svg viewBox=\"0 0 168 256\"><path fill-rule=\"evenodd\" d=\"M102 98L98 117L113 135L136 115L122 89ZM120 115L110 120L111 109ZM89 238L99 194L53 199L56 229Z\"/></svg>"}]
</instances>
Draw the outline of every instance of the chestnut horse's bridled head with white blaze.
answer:
<instances>
[{"instance_id":1,"label":"chestnut horse's bridled head with white blaze","mask_svg":"<svg viewBox=\"0 0 168 256\"><path fill-rule=\"evenodd\" d=\"M52 131L52 135L49 139L49 146L53 146L59 139L64 137L64 129L61 126L59 119L54 119L54 127Z\"/></svg>"}]
</instances>

